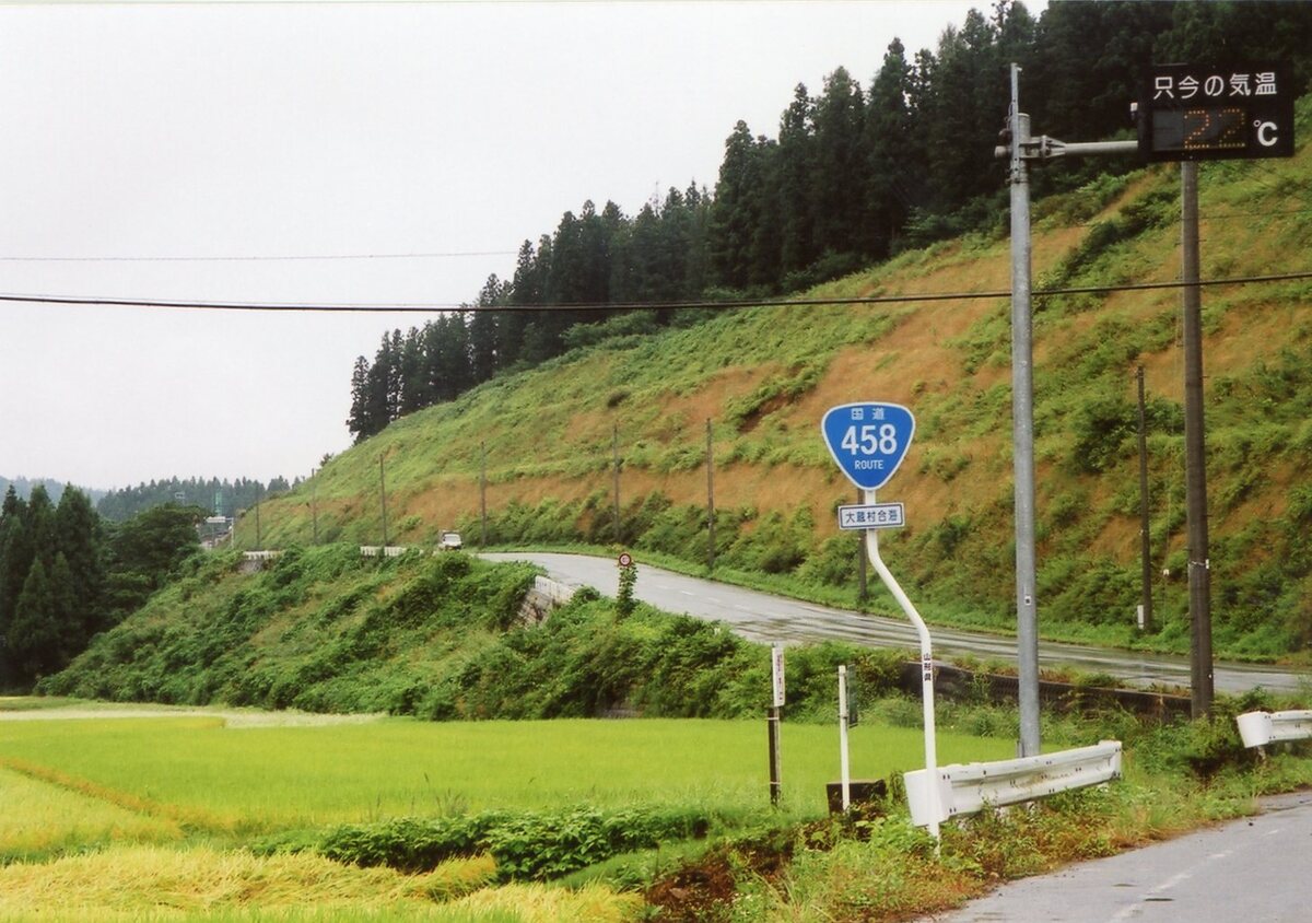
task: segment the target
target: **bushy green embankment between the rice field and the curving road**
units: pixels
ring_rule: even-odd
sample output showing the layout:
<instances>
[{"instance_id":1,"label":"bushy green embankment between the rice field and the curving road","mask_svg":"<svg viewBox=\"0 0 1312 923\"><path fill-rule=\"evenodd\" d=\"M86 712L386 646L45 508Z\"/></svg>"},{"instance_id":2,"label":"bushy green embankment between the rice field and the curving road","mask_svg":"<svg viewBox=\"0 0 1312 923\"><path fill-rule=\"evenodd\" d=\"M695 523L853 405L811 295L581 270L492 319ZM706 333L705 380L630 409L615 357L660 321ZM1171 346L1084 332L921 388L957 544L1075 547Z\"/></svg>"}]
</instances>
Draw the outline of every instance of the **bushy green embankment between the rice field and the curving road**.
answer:
<instances>
[{"instance_id":1,"label":"bushy green embankment between the rice field and the curving road","mask_svg":"<svg viewBox=\"0 0 1312 923\"><path fill-rule=\"evenodd\" d=\"M687 616L638 604L621 617L584 590L546 622L522 621L525 565L323 546L255 575L236 567L216 558L172 584L39 691L437 719L726 718L760 714L769 687L761 646ZM829 706L840 663L892 689L900 655L824 643L789 658L790 713L806 716Z\"/></svg>"}]
</instances>

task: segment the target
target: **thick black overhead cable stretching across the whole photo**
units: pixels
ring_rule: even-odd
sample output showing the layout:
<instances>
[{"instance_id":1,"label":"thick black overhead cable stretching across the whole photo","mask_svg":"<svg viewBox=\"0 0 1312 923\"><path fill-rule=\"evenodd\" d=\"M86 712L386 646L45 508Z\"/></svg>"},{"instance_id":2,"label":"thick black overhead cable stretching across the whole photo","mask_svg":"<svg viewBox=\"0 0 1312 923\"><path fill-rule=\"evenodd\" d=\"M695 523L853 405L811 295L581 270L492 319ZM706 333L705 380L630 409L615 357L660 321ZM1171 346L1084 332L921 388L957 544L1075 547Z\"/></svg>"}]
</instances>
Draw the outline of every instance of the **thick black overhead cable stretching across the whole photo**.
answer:
<instances>
[{"instance_id":1,"label":"thick black overhead cable stretching across the whole photo","mask_svg":"<svg viewBox=\"0 0 1312 923\"><path fill-rule=\"evenodd\" d=\"M1035 298L1060 295L1110 294L1114 291L1156 291L1161 289L1216 288L1231 285L1253 285L1261 282L1291 282L1312 278L1312 270L1292 273L1273 273L1266 276L1232 276L1208 278L1198 282L1134 282L1123 285L1076 285L1056 289L1035 289ZM844 305L908 305L916 302L1008 299L1012 291L998 289L992 291L918 291L899 295L865 295L845 298L737 298L716 301L665 301L665 302L592 302L568 305L496 305L475 307L467 303L315 303L315 302L220 302L189 301L167 298L114 298L102 295L45 295L45 294L0 294L0 302L25 302L31 305L97 305L104 307L151 307L169 310L198 311L318 311L318 312L434 312L434 311L630 311L630 310L728 310L741 307L825 307Z\"/></svg>"}]
</instances>

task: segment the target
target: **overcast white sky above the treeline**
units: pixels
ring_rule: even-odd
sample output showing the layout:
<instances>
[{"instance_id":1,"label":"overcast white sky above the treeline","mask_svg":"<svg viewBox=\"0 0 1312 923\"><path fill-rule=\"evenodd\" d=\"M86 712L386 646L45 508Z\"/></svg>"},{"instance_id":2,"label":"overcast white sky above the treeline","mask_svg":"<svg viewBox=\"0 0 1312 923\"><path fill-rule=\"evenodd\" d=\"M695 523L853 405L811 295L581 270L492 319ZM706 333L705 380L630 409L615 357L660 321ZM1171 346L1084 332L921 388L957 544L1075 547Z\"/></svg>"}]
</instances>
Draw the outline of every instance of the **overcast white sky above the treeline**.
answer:
<instances>
[{"instance_id":1,"label":"overcast white sky above the treeline","mask_svg":"<svg viewBox=\"0 0 1312 923\"><path fill-rule=\"evenodd\" d=\"M774 137L799 81L867 87L971 7L0 7L0 294L471 301L567 209L714 186L739 118ZM176 259L399 253L463 256ZM354 357L424 320L0 303L0 474L308 474Z\"/></svg>"}]
</instances>

